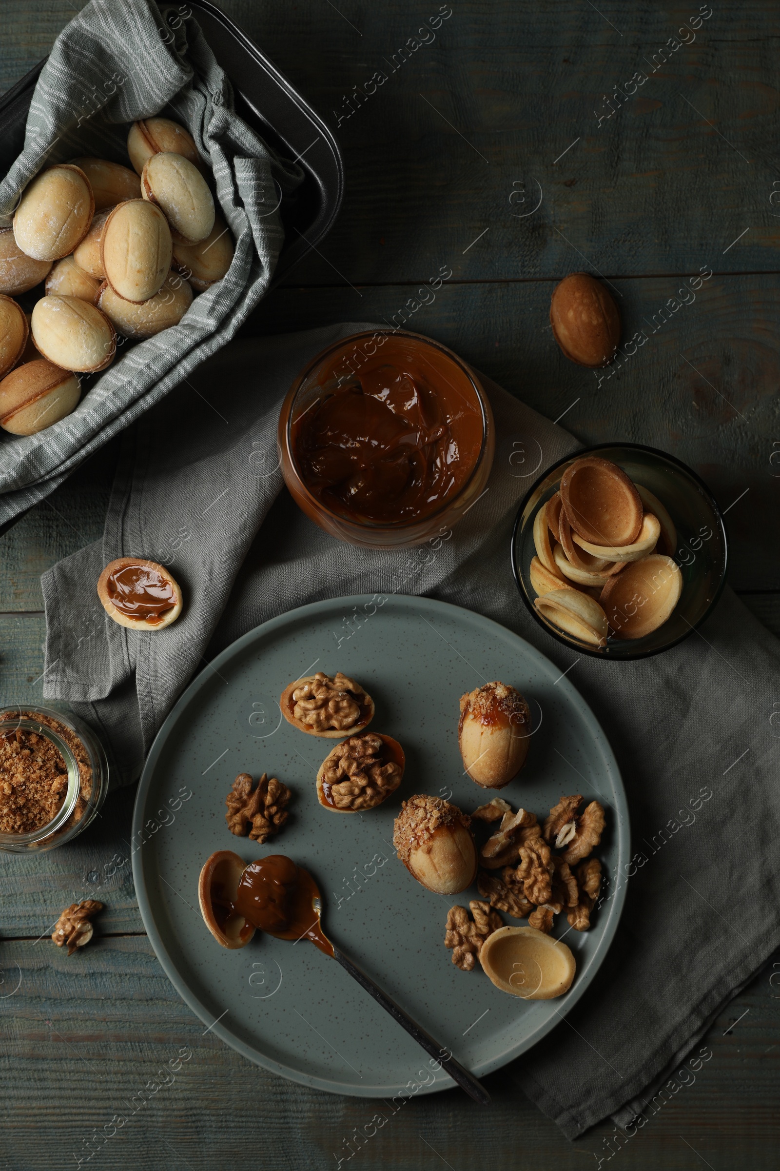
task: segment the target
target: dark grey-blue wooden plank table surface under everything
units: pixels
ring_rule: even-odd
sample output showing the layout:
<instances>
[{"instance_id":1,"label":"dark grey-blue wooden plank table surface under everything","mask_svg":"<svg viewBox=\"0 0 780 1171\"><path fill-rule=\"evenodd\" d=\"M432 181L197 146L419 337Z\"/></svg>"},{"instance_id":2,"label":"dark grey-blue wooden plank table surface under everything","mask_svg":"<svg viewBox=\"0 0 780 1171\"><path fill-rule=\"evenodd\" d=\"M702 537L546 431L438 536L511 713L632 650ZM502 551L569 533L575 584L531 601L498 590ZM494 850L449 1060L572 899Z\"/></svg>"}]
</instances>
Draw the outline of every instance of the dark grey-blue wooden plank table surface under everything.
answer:
<instances>
[{"instance_id":1,"label":"dark grey-blue wooden plank table surface under everything","mask_svg":"<svg viewBox=\"0 0 780 1171\"><path fill-rule=\"evenodd\" d=\"M4 0L0 88L81 7ZM222 7L333 126L346 165L338 224L244 333L389 320L406 307L409 328L584 443L672 452L726 509L732 586L780 632L776 6ZM451 14L435 34L420 30L437 13ZM400 63L405 44L416 48ZM387 80L367 96L377 70ZM451 279L421 304L415 290L441 266ZM648 338L601 384L550 333L552 288L574 271L610 282L626 341L642 329ZM693 299L683 282L700 271L712 275ZM108 448L0 539L4 703L42 698L39 578L101 535L112 461ZM69 847L0 857L2 1166L74 1166L95 1151L91 1166L122 1171L308 1171L346 1165L350 1150L365 1171L581 1171L612 1158L648 1171L778 1166L780 963L712 1026L713 1057L695 1083L628 1142L605 1123L568 1143L519 1091L519 1062L485 1078L492 1109L453 1090L409 1102L368 1139L378 1103L249 1064L181 1002L137 909L132 802L133 790L109 797ZM85 963L47 936L65 904L89 896L106 910ZM175 1082L131 1114L133 1095L181 1050L191 1056Z\"/></svg>"}]
</instances>

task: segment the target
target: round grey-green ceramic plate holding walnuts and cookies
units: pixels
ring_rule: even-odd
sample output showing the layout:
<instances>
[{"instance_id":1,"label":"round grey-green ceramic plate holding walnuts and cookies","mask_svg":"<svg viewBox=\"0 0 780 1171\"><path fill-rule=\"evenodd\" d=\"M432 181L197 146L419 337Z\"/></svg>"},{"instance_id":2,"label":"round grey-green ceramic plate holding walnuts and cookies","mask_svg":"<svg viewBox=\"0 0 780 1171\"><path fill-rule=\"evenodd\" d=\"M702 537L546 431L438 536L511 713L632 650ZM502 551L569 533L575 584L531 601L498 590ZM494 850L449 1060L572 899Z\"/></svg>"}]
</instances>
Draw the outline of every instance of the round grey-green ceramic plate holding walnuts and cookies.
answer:
<instances>
[{"instance_id":1,"label":"round grey-green ceramic plate holding walnuts and cookies","mask_svg":"<svg viewBox=\"0 0 780 1171\"><path fill-rule=\"evenodd\" d=\"M331 938L483 1075L540 1041L593 979L620 917L624 885L615 877L626 872L629 833L607 738L548 659L468 610L398 595L378 602L356 596L292 610L244 635L194 680L160 730L140 780L133 875L154 951L212 1032L294 1081L389 1097L410 1082L429 1082L423 1093L453 1082L441 1070L423 1078L429 1066L422 1049L305 940L292 945L257 933L240 951L221 949L198 910L198 875L208 855L233 849L250 861L287 854L311 870ZM316 772L333 741L292 728L277 703L290 680L316 670L357 678L377 704L372 727L403 745L403 781L379 809L345 816L317 801ZM463 774L457 720L461 694L491 679L529 698L536 728L527 762L502 796L541 815L562 793L598 793L608 807L598 850L607 898L589 932L567 930L559 917L555 933L566 932L578 972L571 991L553 1001L509 997L478 966L455 967L443 945L447 911L477 898L476 888L451 899L434 895L392 847L393 820L413 793L451 795L465 812L489 800ZM229 833L225 796L237 773L264 771L295 796L276 843L256 845Z\"/></svg>"}]
</instances>

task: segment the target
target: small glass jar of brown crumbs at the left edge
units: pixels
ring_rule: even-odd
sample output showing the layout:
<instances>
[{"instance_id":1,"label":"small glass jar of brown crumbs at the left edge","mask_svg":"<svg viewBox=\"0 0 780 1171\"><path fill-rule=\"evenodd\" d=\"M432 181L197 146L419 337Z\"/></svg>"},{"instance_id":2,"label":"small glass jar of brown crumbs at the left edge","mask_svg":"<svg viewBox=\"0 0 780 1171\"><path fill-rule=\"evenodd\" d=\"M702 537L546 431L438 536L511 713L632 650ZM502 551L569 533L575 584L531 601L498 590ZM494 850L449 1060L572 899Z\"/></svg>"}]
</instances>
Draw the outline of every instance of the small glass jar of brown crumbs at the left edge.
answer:
<instances>
[{"instance_id":1,"label":"small glass jar of brown crumbs at the left edge","mask_svg":"<svg viewBox=\"0 0 780 1171\"><path fill-rule=\"evenodd\" d=\"M103 745L48 707L0 708L0 850L51 850L87 829L109 788Z\"/></svg>"}]
</instances>

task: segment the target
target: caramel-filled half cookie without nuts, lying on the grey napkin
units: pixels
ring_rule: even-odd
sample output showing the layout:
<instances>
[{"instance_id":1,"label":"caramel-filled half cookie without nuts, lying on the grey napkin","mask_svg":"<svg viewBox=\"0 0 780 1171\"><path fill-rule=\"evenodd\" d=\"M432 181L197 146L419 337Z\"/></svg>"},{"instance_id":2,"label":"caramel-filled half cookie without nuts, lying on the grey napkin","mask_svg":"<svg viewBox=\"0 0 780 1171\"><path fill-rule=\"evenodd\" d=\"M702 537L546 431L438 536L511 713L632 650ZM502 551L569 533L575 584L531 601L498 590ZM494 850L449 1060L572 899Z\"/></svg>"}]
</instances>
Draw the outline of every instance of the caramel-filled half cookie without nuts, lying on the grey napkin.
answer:
<instances>
[{"instance_id":1,"label":"caramel-filled half cookie without nuts, lying on the grey napkin","mask_svg":"<svg viewBox=\"0 0 780 1171\"><path fill-rule=\"evenodd\" d=\"M144 557L110 561L97 582L103 609L129 630L163 630L181 614L181 589L164 566Z\"/></svg>"}]
</instances>

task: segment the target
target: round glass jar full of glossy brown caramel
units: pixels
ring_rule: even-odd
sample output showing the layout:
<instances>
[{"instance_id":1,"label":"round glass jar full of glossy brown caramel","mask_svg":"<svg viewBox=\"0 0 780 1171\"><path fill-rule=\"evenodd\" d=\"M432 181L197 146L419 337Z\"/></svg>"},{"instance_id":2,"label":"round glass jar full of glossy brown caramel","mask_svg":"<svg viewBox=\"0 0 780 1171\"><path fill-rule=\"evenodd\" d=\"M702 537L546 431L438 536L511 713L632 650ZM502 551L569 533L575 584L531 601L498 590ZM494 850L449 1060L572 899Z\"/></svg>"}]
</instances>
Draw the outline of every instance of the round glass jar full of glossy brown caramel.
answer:
<instances>
[{"instance_id":1,"label":"round glass jar full of glossy brown caramel","mask_svg":"<svg viewBox=\"0 0 780 1171\"><path fill-rule=\"evenodd\" d=\"M279 415L282 474L332 536L374 549L422 545L484 492L493 459L488 397L451 350L367 330L318 354Z\"/></svg>"}]
</instances>

